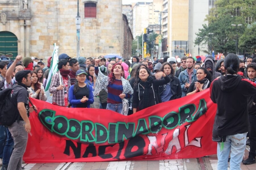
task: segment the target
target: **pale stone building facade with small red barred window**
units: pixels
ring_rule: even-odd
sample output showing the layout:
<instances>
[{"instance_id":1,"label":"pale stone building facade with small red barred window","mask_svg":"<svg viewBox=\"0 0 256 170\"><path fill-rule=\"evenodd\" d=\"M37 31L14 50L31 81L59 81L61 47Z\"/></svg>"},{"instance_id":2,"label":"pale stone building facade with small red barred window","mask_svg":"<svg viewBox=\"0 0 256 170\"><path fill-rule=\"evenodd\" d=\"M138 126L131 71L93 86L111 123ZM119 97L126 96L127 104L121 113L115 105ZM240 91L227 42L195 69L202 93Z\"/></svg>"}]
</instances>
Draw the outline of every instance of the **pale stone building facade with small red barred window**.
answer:
<instances>
[{"instance_id":1,"label":"pale stone building facade with small red barred window","mask_svg":"<svg viewBox=\"0 0 256 170\"><path fill-rule=\"evenodd\" d=\"M76 57L77 3L77 0L1 0L0 15L6 14L6 22L1 17L0 38L6 32L14 34L17 53L24 57L47 58L52 55L54 42L59 53ZM124 28L128 21L123 19L121 0L79 0L79 14L80 56L131 54L132 40L124 41L125 35L131 33Z\"/></svg>"}]
</instances>

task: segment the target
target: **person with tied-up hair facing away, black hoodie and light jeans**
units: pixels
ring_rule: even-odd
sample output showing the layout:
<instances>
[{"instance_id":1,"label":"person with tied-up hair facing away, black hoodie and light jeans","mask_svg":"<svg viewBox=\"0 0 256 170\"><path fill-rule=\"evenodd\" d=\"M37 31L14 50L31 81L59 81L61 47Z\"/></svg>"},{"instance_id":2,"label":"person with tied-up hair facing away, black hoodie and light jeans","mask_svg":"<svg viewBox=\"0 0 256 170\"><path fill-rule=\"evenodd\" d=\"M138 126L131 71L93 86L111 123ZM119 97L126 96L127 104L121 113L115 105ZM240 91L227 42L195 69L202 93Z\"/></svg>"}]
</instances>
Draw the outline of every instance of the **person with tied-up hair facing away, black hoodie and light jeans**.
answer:
<instances>
[{"instance_id":1,"label":"person with tied-up hair facing away, black hoodie and light jeans","mask_svg":"<svg viewBox=\"0 0 256 170\"><path fill-rule=\"evenodd\" d=\"M213 125L213 141L218 142L218 170L240 169L249 131L247 98L256 94L256 84L238 75L239 58L229 54L224 59L225 76L210 86L210 98L217 103Z\"/></svg>"}]
</instances>

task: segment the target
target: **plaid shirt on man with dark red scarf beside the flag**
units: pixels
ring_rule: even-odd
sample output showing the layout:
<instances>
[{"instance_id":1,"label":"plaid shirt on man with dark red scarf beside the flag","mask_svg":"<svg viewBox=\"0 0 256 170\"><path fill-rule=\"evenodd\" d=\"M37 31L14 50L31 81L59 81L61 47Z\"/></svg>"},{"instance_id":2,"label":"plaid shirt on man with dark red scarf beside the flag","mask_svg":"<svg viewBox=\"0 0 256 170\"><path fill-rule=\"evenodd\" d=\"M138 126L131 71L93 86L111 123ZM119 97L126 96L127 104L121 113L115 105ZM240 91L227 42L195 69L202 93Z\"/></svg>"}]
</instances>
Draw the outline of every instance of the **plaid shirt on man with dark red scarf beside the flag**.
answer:
<instances>
[{"instance_id":1,"label":"plaid shirt on man with dark red scarf beside the flag","mask_svg":"<svg viewBox=\"0 0 256 170\"><path fill-rule=\"evenodd\" d=\"M60 76L62 79L62 76ZM63 82L63 79L62 79ZM57 90L57 87L59 87L60 85L60 80L59 80L59 72L55 73L52 77L52 81L50 84L50 88L49 88L49 92L51 94L53 94L53 99L52 101L56 104L58 104L59 106L65 106L65 102L64 102L64 89L63 90ZM70 77L68 75L68 89L67 89L67 93L69 91L69 87L71 85L71 81L70 81Z\"/></svg>"}]
</instances>

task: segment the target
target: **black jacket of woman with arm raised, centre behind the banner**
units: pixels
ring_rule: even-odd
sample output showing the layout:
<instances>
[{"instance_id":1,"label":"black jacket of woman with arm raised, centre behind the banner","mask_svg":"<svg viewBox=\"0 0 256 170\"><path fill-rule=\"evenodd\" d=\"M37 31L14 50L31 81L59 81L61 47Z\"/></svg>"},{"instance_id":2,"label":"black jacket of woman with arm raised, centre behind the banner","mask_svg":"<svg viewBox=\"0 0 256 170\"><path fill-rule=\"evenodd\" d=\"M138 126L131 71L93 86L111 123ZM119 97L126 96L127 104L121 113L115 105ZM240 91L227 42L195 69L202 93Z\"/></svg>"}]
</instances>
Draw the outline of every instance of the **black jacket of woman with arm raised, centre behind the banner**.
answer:
<instances>
[{"instance_id":1,"label":"black jacket of woman with arm raised, centre behind the banner","mask_svg":"<svg viewBox=\"0 0 256 170\"><path fill-rule=\"evenodd\" d=\"M160 80L153 80L153 89L152 85L149 88L149 107L154 106L155 104L161 103L161 97L159 93L159 86L169 83L170 77L165 76L164 79ZM143 107L143 101L144 101L144 88L142 85L138 84L137 86L134 86L133 89L133 102L132 102L132 108L139 108L139 110L145 109Z\"/></svg>"}]
</instances>

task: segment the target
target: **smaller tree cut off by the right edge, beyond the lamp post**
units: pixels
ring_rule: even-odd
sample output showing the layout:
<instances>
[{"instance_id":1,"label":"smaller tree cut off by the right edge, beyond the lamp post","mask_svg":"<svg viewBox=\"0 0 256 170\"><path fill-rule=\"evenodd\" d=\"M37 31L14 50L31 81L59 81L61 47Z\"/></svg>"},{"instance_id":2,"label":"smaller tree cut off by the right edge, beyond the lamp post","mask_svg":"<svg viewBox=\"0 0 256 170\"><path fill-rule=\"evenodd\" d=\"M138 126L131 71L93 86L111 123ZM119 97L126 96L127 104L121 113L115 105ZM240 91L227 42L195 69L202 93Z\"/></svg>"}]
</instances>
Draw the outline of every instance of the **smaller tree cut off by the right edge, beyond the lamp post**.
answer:
<instances>
[{"instance_id":1,"label":"smaller tree cut off by the right edge, beyond the lamp post","mask_svg":"<svg viewBox=\"0 0 256 170\"><path fill-rule=\"evenodd\" d=\"M256 50L256 24L245 29L244 34L239 39L239 48L254 53Z\"/></svg>"}]
</instances>

